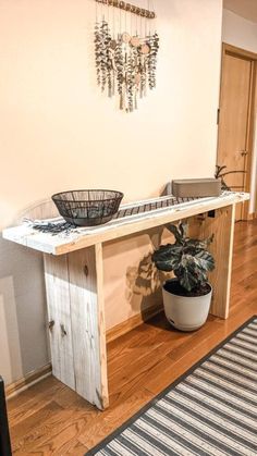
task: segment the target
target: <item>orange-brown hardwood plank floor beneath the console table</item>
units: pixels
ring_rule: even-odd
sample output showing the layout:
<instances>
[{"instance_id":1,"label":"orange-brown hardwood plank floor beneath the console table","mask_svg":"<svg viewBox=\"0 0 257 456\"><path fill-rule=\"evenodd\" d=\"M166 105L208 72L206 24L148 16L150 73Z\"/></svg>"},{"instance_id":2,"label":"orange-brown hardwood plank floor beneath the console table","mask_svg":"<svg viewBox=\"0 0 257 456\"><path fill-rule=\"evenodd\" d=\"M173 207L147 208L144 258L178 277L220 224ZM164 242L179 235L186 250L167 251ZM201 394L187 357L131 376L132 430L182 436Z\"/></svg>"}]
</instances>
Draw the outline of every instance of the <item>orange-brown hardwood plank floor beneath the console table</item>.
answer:
<instances>
[{"instance_id":1,"label":"orange-brown hardwood plank floor beneath the console table","mask_svg":"<svg viewBox=\"0 0 257 456\"><path fill-rule=\"evenodd\" d=\"M163 316L108 347L110 408L100 412L52 377L8 404L13 454L84 455L212 347L257 313L257 221L237 223L231 312L194 333Z\"/></svg>"}]
</instances>

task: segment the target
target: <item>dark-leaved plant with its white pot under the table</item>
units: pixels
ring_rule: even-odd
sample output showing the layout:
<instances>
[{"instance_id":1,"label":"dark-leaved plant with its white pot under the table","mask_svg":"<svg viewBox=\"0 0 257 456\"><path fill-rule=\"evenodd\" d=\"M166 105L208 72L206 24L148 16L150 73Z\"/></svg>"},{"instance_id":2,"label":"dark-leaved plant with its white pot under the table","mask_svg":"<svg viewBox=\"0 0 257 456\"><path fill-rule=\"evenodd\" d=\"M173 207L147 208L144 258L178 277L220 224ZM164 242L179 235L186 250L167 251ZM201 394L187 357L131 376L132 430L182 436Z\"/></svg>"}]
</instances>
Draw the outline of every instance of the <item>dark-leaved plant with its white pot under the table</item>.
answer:
<instances>
[{"instance_id":1,"label":"dark-leaved plant with its white pot under the table","mask_svg":"<svg viewBox=\"0 0 257 456\"><path fill-rule=\"evenodd\" d=\"M174 244L159 247L152 261L160 271L173 271L175 278L162 286L166 317L181 331L194 331L207 320L212 287L207 272L215 269L215 259L207 250L213 235L199 241L187 237L187 224L170 225Z\"/></svg>"}]
</instances>

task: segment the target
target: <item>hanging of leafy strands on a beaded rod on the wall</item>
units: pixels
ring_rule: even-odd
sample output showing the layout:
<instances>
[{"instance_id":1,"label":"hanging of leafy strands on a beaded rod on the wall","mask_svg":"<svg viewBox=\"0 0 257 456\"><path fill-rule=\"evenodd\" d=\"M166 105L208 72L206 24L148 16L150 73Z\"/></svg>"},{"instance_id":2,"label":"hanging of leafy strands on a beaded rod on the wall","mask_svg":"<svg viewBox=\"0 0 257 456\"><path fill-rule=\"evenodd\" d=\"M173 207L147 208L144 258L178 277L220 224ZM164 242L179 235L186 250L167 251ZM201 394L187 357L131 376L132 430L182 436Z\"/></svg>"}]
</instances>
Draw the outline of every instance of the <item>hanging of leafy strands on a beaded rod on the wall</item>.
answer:
<instances>
[{"instance_id":1,"label":"hanging of leafy strands on a beaded rod on the wall","mask_svg":"<svg viewBox=\"0 0 257 456\"><path fill-rule=\"evenodd\" d=\"M96 1L97 84L108 97L119 96L126 112L156 87L159 36L156 13L119 0Z\"/></svg>"}]
</instances>

